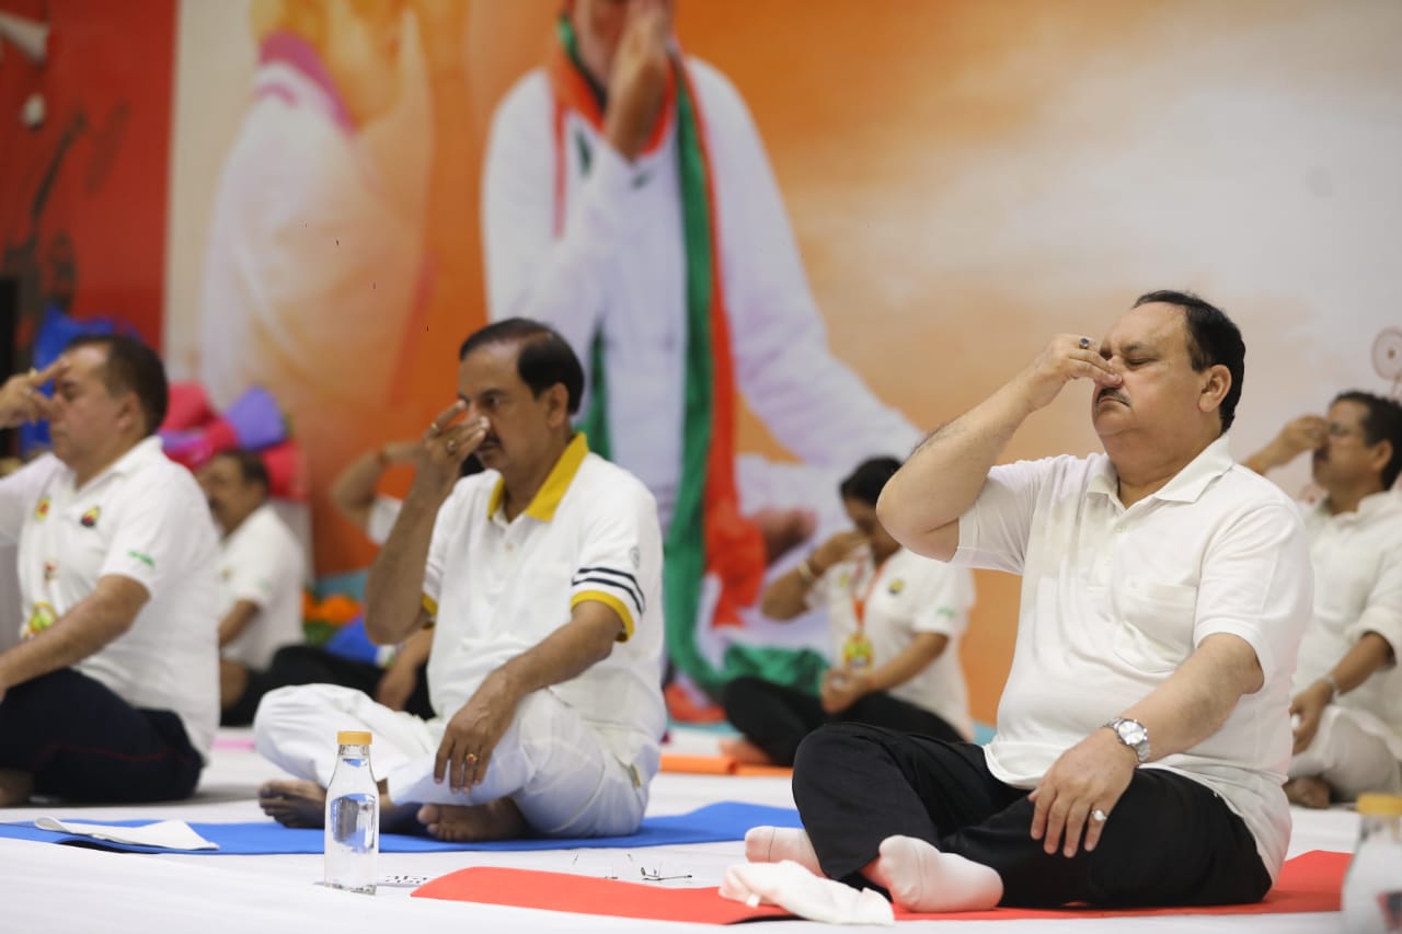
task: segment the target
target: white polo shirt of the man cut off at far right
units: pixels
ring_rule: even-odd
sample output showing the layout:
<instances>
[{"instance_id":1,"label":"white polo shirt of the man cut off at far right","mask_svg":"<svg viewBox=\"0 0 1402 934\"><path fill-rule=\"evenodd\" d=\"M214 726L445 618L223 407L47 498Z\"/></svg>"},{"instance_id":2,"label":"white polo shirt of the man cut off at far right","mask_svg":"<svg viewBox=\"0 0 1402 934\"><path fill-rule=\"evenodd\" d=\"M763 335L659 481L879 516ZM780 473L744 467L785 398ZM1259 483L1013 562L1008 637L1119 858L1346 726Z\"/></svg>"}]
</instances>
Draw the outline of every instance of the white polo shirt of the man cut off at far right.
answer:
<instances>
[{"instance_id":1,"label":"white polo shirt of the man cut off at far right","mask_svg":"<svg viewBox=\"0 0 1402 934\"><path fill-rule=\"evenodd\" d=\"M1357 510L1330 516L1304 508L1315 569L1314 620L1300 644L1294 690L1326 675L1364 632L1402 658L1402 494L1364 496ZM1380 669L1333 701L1402 759L1402 668Z\"/></svg>"}]
</instances>

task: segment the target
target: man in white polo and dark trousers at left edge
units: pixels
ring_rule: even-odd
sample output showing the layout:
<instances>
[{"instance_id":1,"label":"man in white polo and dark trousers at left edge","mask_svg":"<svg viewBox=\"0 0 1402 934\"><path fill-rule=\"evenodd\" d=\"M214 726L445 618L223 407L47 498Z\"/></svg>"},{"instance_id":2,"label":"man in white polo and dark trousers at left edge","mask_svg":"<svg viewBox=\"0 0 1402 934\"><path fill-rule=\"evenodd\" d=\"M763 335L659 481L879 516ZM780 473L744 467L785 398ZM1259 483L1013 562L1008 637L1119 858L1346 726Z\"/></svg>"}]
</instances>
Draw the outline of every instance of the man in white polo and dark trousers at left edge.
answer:
<instances>
[{"instance_id":1,"label":"man in white polo and dark trousers at left edge","mask_svg":"<svg viewBox=\"0 0 1402 934\"><path fill-rule=\"evenodd\" d=\"M165 405L160 358L128 337L79 338L0 391L0 426L48 418L53 438L0 480L25 618L0 654L3 805L195 791L219 719L216 534L154 438Z\"/></svg>"}]
</instances>

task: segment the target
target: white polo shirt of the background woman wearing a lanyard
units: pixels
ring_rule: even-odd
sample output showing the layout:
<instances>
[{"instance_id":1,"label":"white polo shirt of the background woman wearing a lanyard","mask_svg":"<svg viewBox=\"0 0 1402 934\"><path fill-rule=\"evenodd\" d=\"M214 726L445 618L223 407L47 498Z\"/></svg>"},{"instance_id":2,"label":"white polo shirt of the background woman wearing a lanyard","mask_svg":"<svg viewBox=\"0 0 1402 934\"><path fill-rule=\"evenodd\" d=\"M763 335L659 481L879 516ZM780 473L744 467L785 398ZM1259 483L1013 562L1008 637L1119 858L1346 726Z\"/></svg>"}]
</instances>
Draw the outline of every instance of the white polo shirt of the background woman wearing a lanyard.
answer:
<instances>
[{"instance_id":1,"label":"white polo shirt of the background woman wearing a lanyard","mask_svg":"<svg viewBox=\"0 0 1402 934\"><path fill-rule=\"evenodd\" d=\"M934 662L887 694L928 710L973 738L969 690L959 663L959 639L973 606L973 575L944 561L932 561L900 548L878 568L871 554L843 561L808 592L812 609L826 609L831 624L834 658L858 625L872 642L872 668L900 655L917 632L939 632L949 644ZM858 624L857 602L864 606Z\"/></svg>"}]
</instances>

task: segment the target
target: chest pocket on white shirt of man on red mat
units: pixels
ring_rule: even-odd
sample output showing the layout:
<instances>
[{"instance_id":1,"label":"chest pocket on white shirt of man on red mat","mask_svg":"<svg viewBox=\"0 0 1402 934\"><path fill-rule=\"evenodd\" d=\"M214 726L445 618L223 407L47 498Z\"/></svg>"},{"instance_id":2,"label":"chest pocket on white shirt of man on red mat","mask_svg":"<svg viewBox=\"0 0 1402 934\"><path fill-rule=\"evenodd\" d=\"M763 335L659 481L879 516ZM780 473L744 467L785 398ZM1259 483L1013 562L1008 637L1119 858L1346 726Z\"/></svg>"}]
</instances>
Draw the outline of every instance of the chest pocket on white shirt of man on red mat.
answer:
<instances>
[{"instance_id":1,"label":"chest pocket on white shirt of man on red mat","mask_svg":"<svg viewBox=\"0 0 1402 934\"><path fill-rule=\"evenodd\" d=\"M1176 669L1193 649L1197 588L1129 576L1112 588L1115 655L1136 670Z\"/></svg>"}]
</instances>

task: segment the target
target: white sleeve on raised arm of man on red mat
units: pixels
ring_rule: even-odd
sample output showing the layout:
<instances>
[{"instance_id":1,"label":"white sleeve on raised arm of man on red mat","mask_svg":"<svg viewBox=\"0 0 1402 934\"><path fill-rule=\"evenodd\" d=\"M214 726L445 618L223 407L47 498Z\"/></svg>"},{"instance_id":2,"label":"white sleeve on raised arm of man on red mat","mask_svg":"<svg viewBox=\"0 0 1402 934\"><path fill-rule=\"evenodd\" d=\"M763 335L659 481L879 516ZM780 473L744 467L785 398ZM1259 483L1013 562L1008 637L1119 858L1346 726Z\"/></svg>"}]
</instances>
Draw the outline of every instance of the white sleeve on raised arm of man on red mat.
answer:
<instances>
[{"instance_id":1,"label":"white sleeve on raised arm of man on red mat","mask_svg":"<svg viewBox=\"0 0 1402 934\"><path fill-rule=\"evenodd\" d=\"M959 548L951 562L1022 574L1037 495L1059 460L1019 460L990 470L979 498L959 516Z\"/></svg>"}]
</instances>

